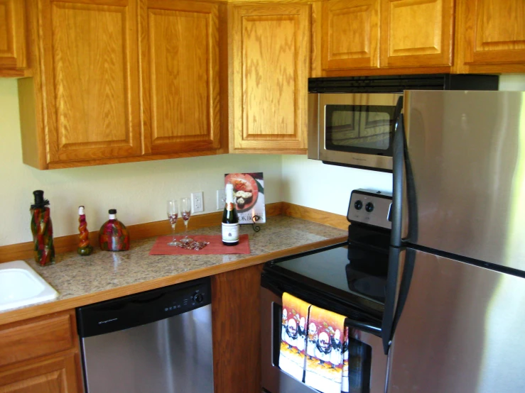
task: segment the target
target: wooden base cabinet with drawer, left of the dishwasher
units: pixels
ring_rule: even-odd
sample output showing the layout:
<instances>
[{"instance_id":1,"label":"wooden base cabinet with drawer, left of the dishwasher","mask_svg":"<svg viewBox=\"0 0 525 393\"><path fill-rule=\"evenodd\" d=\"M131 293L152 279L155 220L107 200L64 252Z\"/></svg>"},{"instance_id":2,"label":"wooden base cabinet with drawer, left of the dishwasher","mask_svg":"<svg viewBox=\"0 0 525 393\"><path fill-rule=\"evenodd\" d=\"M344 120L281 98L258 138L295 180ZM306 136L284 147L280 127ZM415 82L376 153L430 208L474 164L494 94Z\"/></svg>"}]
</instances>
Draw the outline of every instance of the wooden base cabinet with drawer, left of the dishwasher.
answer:
<instances>
[{"instance_id":1,"label":"wooden base cabinet with drawer, left of the dishwasher","mask_svg":"<svg viewBox=\"0 0 525 393\"><path fill-rule=\"evenodd\" d=\"M0 327L0 393L83 392L74 311Z\"/></svg>"}]
</instances>

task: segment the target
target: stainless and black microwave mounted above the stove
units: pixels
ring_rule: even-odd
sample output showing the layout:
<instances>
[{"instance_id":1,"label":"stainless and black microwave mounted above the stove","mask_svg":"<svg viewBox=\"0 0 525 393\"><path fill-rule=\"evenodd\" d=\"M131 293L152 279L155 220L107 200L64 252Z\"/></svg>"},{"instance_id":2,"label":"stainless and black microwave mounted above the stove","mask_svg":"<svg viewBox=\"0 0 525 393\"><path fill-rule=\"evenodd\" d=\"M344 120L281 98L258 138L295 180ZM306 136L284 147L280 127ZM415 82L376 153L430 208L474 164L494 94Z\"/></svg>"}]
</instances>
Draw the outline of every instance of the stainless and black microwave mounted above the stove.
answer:
<instances>
[{"instance_id":1,"label":"stainless and black microwave mounted above the stove","mask_svg":"<svg viewBox=\"0 0 525 393\"><path fill-rule=\"evenodd\" d=\"M391 172L405 90L497 90L497 75L421 74L308 79L308 158Z\"/></svg>"}]
</instances>

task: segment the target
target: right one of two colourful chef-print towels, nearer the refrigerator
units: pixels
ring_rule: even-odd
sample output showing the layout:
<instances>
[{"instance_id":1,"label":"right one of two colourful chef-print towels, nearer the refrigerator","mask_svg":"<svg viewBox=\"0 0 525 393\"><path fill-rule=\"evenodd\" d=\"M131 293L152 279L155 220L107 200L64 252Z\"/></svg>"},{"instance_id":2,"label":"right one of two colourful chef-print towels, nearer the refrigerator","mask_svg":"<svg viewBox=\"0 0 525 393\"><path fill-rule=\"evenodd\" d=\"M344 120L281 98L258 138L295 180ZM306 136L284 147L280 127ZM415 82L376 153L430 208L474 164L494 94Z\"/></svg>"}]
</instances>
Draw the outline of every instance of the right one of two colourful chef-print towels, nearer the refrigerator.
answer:
<instances>
[{"instance_id":1,"label":"right one of two colourful chef-print towels, nearer the refrigerator","mask_svg":"<svg viewBox=\"0 0 525 393\"><path fill-rule=\"evenodd\" d=\"M342 390L345 316L310 306L305 384L325 393Z\"/></svg>"}]
</instances>

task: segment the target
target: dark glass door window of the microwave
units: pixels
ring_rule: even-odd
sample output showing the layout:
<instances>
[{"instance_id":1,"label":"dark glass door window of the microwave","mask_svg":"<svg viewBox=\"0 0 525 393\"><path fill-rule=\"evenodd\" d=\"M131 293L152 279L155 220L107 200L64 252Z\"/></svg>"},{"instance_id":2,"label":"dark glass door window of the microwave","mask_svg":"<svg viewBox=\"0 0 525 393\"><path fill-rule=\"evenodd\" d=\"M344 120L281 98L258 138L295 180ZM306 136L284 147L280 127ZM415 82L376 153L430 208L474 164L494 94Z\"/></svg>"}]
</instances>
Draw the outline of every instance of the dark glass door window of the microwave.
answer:
<instances>
[{"instance_id":1,"label":"dark glass door window of the microwave","mask_svg":"<svg viewBox=\"0 0 525 393\"><path fill-rule=\"evenodd\" d=\"M327 150L391 156L395 106L325 106Z\"/></svg>"}]
</instances>

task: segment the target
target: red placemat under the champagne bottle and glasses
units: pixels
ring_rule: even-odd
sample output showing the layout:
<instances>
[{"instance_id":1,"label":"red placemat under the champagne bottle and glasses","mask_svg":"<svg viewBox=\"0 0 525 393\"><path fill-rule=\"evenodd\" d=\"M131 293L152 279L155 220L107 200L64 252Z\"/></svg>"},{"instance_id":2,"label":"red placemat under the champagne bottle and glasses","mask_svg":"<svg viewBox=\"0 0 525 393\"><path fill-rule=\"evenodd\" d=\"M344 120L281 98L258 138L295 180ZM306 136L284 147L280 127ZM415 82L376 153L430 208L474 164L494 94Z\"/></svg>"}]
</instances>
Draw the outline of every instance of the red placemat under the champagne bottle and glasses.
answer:
<instances>
[{"instance_id":1,"label":"red placemat under the champagne bottle and glasses","mask_svg":"<svg viewBox=\"0 0 525 393\"><path fill-rule=\"evenodd\" d=\"M248 235L239 236L238 245L224 245L222 244L222 236L220 235L195 235L190 236L195 241L210 242L202 250L186 250L185 248L173 247L168 245L171 242L172 236L159 236L153 244L149 255L205 255L205 254L249 254L250 244ZM180 240L180 236L177 236Z\"/></svg>"}]
</instances>

